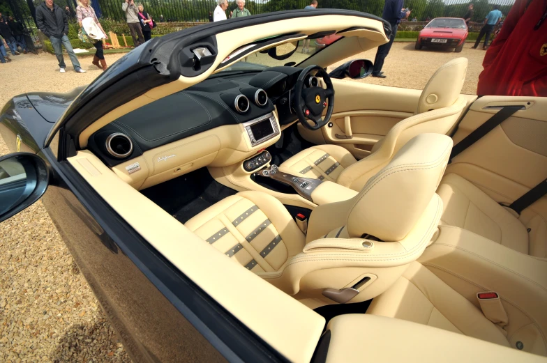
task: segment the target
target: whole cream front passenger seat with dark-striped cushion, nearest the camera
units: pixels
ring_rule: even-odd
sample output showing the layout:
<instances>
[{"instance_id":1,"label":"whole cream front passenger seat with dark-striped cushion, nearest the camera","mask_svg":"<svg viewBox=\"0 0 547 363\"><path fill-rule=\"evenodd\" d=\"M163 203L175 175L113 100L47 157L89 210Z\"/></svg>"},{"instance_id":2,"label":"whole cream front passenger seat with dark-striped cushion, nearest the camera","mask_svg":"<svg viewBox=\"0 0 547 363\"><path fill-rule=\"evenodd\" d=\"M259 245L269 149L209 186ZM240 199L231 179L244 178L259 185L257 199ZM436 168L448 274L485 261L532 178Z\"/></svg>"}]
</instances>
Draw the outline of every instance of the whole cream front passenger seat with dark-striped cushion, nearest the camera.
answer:
<instances>
[{"instance_id":1,"label":"whole cream front passenger seat with dark-striped cushion, nearest the camera","mask_svg":"<svg viewBox=\"0 0 547 363\"><path fill-rule=\"evenodd\" d=\"M223 199L186 226L290 295L303 292L329 304L334 301L324 298L324 288L343 289L369 277L351 301L368 300L424 252L437 230L442 201L435 190L451 146L442 134L414 137L357 196L315 208L307 235L263 192Z\"/></svg>"}]
</instances>

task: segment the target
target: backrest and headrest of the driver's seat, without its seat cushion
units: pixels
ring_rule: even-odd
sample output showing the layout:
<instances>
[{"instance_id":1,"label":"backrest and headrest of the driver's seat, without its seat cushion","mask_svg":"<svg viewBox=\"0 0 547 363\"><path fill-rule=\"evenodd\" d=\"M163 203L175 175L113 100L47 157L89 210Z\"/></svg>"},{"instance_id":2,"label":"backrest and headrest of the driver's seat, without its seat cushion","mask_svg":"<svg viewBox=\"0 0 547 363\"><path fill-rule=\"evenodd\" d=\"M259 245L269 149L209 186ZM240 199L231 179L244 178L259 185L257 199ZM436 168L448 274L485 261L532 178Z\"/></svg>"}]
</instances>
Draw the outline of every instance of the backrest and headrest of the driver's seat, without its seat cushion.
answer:
<instances>
[{"instance_id":1,"label":"backrest and headrest of the driver's seat, without its seat cushion","mask_svg":"<svg viewBox=\"0 0 547 363\"><path fill-rule=\"evenodd\" d=\"M460 91L467 71L467 59L457 58L442 65L421 93L417 114L394 125L373 147L373 153L347 167L336 183L361 190L410 139L424 132L446 134L454 128L467 105Z\"/></svg>"}]
</instances>

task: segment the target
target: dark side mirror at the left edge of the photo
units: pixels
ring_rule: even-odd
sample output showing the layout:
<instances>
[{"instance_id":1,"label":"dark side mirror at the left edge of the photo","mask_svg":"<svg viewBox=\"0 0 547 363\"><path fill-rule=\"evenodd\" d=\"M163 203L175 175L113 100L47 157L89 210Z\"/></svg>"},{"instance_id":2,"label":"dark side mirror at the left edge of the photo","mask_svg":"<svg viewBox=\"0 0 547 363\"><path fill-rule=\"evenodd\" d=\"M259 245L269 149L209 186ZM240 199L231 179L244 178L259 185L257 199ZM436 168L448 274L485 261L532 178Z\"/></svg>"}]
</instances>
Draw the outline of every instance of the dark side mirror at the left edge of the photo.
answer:
<instances>
[{"instance_id":1,"label":"dark side mirror at the left edge of the photo","mask_svg":"<svg viewBox=\"0 0 547 363\"><path fill-rule=\"evenodd\" d=\"M38 155L14 153L0 157L0 222L38 201L49 174Z\"/></svg>"}]
</instances>

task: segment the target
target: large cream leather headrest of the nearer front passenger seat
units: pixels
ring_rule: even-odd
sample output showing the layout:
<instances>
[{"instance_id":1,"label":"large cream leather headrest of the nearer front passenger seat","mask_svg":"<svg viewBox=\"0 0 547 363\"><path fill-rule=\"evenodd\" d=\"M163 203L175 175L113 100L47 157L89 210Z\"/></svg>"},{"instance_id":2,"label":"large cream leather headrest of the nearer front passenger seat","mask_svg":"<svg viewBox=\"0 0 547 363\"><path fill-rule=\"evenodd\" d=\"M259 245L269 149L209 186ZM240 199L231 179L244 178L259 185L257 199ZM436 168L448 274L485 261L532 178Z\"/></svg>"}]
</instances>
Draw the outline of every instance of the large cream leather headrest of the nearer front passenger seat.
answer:
<instances>
[{"instance_id":1,"label":"large cream leather headrest of the nearer front passenger seat","mask_svg":"<svg viewBox=\"0 0 547 363\"><path fill-rule=\"evenodd\" d=\"M354 196L347 215L350 237L405 238L433 198L451 149L452 139L443 134L410 139Z\"/></svg>"}]
</instances>

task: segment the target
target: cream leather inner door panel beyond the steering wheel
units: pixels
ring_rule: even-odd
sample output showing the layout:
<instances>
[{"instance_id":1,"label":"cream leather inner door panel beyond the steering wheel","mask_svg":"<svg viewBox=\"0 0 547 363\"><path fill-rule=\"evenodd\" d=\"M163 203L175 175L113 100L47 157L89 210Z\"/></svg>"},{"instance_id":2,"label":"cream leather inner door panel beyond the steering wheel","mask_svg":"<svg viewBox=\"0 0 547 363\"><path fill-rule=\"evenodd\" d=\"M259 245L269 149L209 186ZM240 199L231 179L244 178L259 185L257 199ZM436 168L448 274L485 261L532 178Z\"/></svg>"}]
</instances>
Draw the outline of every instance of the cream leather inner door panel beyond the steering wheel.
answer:
<instances>
[{"instance_id":1,"label":"cream leather inner door panel beyond the steering wheel","mask_svg":"<svg viewBox=\"0 0 547 363\"><path fill-rule=\"evenodd\" d=\"M314 144L343 146L357 159L370 155L377 141L396 123L412 116L421 95L420 90L414 89L344 79L332 79L332 82L336 92L332 127L310 131L299 125L298 130L304 139Z\"/></svg>"}]
</instances>

